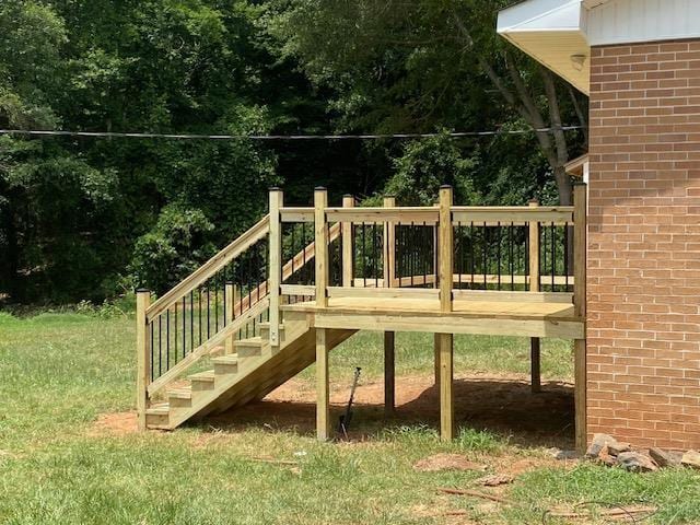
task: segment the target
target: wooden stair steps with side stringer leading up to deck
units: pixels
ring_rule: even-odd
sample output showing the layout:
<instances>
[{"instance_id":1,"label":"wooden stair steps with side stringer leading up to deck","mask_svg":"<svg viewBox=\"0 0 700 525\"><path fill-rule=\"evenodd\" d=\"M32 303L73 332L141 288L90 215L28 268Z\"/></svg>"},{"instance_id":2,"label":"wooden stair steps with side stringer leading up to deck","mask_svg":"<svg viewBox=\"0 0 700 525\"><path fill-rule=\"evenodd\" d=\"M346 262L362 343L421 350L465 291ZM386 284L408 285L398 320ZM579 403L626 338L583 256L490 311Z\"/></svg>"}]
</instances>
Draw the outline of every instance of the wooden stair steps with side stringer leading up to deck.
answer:
<instances>
[{"instance_id":1,"label":"wooden stair steps with side stringer leading up to deck","mask_svg":"<svg viewBox=\"0 0 700 525\"><path fill-rule=\"evenodd\" d=\"M261 324L260 336L233 343L235 353L211 358L211 370L167 387L166 400L145 411L148 428L172 430L186 421L261 399L314 363L316 332L306 315L290 313L279 330L279 347L269 342L269 323ZM335 348L353 334L331 330L329 346Z\"/></svg>"}]
</instances>

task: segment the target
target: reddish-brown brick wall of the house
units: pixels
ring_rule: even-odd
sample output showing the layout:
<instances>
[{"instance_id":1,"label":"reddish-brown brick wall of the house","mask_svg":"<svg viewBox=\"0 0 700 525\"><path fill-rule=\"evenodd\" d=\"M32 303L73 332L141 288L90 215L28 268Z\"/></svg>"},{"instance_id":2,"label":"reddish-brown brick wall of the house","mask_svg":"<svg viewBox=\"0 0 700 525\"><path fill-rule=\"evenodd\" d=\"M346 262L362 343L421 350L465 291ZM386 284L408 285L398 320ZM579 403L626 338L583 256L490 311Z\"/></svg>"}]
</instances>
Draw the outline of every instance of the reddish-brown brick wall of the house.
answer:
<instances>
[{"instance_id":1,"label":"reddish-brown brick wall of the house","mask_svg":"<svg viewBox=\"0 0 700 525\"><path fill-rule=\"evenodd\" d=\"M700 40L594 48L588 434L700 446Z\"/></svg>"}]
</instances>

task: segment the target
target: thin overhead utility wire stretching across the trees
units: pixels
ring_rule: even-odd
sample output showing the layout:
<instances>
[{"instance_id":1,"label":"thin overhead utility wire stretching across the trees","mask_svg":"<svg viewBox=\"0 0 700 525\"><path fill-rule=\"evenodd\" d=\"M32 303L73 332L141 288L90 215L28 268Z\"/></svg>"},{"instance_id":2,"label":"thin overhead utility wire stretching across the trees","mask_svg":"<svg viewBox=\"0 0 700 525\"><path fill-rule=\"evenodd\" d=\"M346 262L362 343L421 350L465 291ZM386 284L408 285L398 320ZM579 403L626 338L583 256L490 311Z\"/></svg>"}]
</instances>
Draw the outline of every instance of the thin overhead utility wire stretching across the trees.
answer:
<instances>
[{"instance_id":1,"label":"thin overhead utility wire stretching across the trees","mask_svg":"<svg viewBox=\"0 0 700 525\"><path fill-rule=\"evenodd\" d=\"M378 135L174 135L174 133L118 133L110 131L44 131L24 129L0 129L0 135L24 137L84 137L105 139L173 139L173 140L380 140L423 139L431 137L492 137L497 135L527 135L551 131L573 131L583 126L561 126L538 129L513 129L494 131L454 131L450 133L378 133Z\"/></svg>"}]
</instances>

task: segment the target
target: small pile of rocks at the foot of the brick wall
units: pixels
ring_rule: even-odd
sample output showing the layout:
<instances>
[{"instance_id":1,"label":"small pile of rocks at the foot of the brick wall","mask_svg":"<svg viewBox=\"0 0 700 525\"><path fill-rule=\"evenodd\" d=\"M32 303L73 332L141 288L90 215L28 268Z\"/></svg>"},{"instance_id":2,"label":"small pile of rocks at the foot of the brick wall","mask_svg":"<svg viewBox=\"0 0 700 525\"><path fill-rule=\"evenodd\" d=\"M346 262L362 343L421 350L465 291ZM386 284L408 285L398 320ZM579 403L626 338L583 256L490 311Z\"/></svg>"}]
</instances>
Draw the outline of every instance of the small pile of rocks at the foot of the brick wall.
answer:
<instances>
[{"instance_id":1,"label":"small pile of rocks at the foot of the brick wall","mask_svg":"<svg viewBox=\"0 0 700 525\"><path fill-rule=\"evenodd\" d=\"M595 434L586 451L586 458L610 467L619 466L630 472L653 472L666 467L690 467L700 469L700 453L650 448L633 451L630 443L620 443L608 434Z\"/></svg>"}]
</instances>

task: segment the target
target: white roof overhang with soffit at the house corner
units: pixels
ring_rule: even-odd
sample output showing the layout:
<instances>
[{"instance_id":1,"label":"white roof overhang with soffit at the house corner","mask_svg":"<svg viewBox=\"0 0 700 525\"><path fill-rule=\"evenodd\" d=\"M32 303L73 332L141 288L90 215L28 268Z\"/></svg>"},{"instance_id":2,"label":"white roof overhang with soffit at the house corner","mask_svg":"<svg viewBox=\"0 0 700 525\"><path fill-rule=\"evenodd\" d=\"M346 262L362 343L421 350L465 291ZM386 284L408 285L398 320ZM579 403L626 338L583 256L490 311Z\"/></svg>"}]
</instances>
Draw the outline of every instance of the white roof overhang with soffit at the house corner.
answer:
<instances>
[{"instance_id":1,"label":"white roof overhang with soffit at the house corner","mask_svg":"<svg viewBox=\"0 0 700 525\"><path fill-rule=\"evenodd\" d=\"M499 13L498 32L587 93L591 46L583 31L585 14L581 0L528 0Z\"/></svg>"}]
</instances>

